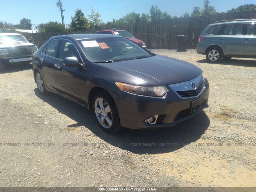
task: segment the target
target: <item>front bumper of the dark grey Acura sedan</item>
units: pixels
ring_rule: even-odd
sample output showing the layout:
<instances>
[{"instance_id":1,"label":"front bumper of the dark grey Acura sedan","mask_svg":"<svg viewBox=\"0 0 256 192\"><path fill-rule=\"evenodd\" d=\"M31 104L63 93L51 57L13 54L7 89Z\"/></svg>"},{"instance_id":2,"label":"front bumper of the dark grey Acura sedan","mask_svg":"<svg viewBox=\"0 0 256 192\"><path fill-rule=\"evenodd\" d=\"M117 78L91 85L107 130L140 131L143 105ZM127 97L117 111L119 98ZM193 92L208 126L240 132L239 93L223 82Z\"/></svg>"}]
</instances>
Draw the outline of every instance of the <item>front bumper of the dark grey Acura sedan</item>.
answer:
<instances>
[{"instance_id":1,"label":"front bumper of the dark grey Acura sedan","mask_svg":"<svg viewBox=\"0 0 256 192\"><path fill-rule=\"evenodd\" d=\"M115 94L121 125L131 129L147 129L175 126L204 108L208 107L209 83L206 80L205 90L194 98L180 98L176 92L170 90L163 98L139 96L120 91ZM202 103L197 110L191 112L191 103L200 98ZM145 122L150 116L158 116L156 124Z\"/></svg>"}]
</instances>

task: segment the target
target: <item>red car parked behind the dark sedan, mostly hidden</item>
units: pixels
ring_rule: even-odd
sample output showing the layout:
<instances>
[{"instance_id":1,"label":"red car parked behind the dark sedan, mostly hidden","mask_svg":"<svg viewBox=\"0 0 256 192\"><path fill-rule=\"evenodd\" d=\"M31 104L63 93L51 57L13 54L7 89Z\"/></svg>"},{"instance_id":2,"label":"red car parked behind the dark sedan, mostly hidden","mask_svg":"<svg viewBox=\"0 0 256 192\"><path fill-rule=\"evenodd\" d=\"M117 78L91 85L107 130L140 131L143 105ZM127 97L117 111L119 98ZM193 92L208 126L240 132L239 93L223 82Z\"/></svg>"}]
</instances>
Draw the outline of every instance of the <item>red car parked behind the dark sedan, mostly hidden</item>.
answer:
<instances>
[{"instance_id":1,"label":"red car parked behind the dark sedan, mostly hidden","mask_svg":"<svg viewBox=\"0 0 256 192\"><path fill-rule=\"evenodd\" d=\"M145 49L147 48L145 42L143 42L142 40L136 39L132 34L130 34L130 32L125 31L125 30L107 29L107 30L97 31L96 33L120 35L120 36L123 36L125 38L128 38L128 39L132 40L133 42L139 44L140 46L144 47Z\"/></svg>"}]
</instances>

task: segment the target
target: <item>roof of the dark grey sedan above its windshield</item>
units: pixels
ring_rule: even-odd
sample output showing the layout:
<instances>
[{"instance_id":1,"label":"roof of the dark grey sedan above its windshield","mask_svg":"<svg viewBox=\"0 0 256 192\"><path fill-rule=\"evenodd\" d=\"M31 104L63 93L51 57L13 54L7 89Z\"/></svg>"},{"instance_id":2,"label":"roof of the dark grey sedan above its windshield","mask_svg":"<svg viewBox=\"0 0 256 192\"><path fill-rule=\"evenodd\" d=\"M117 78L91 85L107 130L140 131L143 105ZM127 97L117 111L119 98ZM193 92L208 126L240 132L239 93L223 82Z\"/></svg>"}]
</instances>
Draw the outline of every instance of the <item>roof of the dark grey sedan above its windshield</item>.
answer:
<instances>
[{"instance_id":1,"label":"roof of the dark grey sedan above its windshield","mask_svg":"<svg viewBox=\"0 0 256 192\"><path fill-rule=\"evenodd\" d=\"M52 39L56 38L73 38L76 40L79 39L92 39L92 38L122 38L121 36L113 36L110 34L70 34L70 35L59 35L59 36L54 36Z\"/></svg>"}]
</instances>

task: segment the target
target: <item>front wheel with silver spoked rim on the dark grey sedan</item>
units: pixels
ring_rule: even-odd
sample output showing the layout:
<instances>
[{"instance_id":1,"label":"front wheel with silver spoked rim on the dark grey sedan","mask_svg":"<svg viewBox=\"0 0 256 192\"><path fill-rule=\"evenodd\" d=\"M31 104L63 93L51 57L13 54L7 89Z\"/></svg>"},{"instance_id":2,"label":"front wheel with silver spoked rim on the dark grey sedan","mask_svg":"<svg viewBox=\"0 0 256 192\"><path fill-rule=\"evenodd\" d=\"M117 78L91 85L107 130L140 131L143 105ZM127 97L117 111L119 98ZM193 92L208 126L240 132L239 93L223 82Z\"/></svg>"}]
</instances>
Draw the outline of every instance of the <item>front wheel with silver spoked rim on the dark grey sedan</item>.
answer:
<instances>
[{"instance_id":1,"label":"front wheel with silver spoked rim on the dark grey sedan","mask_svg":"<svg viewBox=\"0 0 256 192\"><path fill-rule=\"evenodd\" d=\"M97 92L93 98L93 114L102 130L114 133L122 129L113 98L106 91Z\"/></svg>"}]
</instances>

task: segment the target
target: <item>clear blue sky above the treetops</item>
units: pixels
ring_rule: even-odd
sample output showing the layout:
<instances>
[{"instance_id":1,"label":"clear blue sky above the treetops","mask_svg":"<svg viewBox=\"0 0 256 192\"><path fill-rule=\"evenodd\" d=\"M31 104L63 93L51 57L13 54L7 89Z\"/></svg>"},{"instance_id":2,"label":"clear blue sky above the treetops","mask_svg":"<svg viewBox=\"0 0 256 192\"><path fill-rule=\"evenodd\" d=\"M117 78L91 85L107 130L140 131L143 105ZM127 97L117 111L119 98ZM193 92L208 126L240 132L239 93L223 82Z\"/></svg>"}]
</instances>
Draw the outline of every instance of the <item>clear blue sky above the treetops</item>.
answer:
<instances>
[{"instance_id":1,"label":"clear blue sky above the treetops","mask_svg":"<svg viewBox=\"0 0 256 192\"><path fill-rule=\"evenodd\" d=\"M62 22L59 0L0 0L0 21L19 24L22 18L31 20L33 26L49 21ZM150 7L158 6L162 12L170 16L180 17L184 13L192 13L194 7L200 9L204 6L203 0L61 0L65 24L70 24L71 16L76 9L82 9L84 16L91 14L90 7L101 14L103 22L120 19L128 13L148 13ZM217 12L226 12L244 4L256 4L256 0L210 0L210 6L214 6Z\"/></svg>"}]
</instances>

